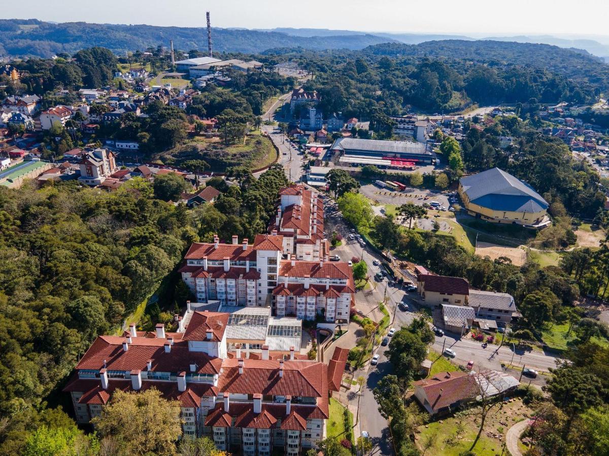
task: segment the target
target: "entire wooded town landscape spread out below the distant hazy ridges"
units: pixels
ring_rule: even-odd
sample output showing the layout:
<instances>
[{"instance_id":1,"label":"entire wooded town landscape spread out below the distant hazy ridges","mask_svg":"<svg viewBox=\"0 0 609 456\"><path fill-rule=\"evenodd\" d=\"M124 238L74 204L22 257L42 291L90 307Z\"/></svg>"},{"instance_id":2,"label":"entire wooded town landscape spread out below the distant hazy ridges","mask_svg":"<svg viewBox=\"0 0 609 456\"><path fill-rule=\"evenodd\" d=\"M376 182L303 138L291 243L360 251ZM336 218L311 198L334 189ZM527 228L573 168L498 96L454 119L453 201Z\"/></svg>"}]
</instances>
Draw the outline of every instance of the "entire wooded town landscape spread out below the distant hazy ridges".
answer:
<instances>
[{"instance_id":1,"label":"entire wooded town landscape spread out below the distant hazy ridges","mask_svg":"<svg viewBox=\"0 0 609 456\"><path fill-rule=\"evenodd\" d=\"M0 454L606 454L607 63L211 17L0 41Z\"/></svg>"}]
</instances>

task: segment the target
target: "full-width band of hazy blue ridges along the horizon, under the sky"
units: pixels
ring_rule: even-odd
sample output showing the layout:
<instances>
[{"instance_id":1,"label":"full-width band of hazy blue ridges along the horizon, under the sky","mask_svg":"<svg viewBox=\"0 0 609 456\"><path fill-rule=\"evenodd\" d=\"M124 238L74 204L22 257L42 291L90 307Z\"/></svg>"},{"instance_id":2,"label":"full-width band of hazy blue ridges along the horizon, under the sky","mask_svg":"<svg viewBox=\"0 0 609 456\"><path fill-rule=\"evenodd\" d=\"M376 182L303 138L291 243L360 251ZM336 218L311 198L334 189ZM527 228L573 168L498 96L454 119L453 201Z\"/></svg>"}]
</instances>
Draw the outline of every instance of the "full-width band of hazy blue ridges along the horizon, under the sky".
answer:
<instances>
[{"instance_id":1,"label":"full-width band of hazy blue ridges along the horizon, under the sky","mask_svg":"<svg viewBox=\"0 0 609 456\"><path fill-rule=\"evenodd\" d=\"M303 48L309 50L359 50L381 43L420 44L428 41L479 38L463 35L426 33L356 32L331 29L272 30L212 29L214 50L258 54L267 49ZM539 36L496 36L484 38L519 43L544 43L558 47L583 49L609 61L609 38L605 43L588 38ZM0 19L0 55L52 57L62 52L74 53L91 46L104 46L117 54L127 50L168 46L174 40L177 49L207 49L207 32L203 27L157 27L88 22L44 22L38 19Z\"/></svg>"}]
</instances>

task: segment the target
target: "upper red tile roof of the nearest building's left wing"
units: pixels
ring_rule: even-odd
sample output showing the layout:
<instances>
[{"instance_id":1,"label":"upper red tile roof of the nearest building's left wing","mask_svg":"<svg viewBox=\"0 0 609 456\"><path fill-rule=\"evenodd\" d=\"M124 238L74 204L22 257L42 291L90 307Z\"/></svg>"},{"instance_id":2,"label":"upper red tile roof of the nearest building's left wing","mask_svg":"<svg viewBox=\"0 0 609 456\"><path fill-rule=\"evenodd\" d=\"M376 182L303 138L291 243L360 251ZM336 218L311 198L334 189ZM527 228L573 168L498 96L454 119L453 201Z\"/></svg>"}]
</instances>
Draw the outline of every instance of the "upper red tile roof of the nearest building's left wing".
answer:
<instances>
[{"instance_id":1,"label":"upper red tile roof of the nearest building's left wing","mask_svg":"<svg viewBox=\"0 0 609 456\"><path fill-rule=\"evenodd\" d=\"M228 321L228 314L226 315ZM76 368L99 370L105 363L105 367L109 370L147 370L146 363L150 359L153 371L188 371L191 364L197 364L197 373L219 373L222 360L211 358L201 351L188 351L188 343L180 340L182 335L181 333L166 334L167 337L174 337L175 340L170 353L166 353L164 348L167 339L133 337L132 344L129 344L128 350L124 351L122 343L125 337L99 336L80 359Z\"/></svg>"}]
</instances>

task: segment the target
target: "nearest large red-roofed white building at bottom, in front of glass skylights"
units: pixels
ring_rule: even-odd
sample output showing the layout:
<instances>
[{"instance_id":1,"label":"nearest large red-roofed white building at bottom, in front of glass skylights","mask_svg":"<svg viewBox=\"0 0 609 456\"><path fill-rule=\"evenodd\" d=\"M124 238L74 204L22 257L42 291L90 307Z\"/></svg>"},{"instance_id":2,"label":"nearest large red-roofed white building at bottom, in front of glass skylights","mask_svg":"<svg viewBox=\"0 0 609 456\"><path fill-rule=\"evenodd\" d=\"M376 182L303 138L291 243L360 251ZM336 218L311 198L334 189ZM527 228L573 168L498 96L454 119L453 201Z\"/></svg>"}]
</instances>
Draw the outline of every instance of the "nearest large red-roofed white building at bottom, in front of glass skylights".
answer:
<instances>
[{"instance_id":1,"label":"nearest large red-roofed white building at bottom, in front of glass skylights","mask_svg":"<svg viewBox=\"0 0 609 456\"><path fill-rule=\"evenodd\" d=\"M131 325L123 336L97 337L63 389L77 421L99 416L116 390L155 388L179 402L185 436L206 435L220 450L295 456L315 447L329 416L328 367L301 359L293 347L289 356L273 356L267 345L249 358L239 345L229 352L231 320L245 316L232 317L189 304L175 333L162 324L150 333Z\"/></svg>"}]
</instances>

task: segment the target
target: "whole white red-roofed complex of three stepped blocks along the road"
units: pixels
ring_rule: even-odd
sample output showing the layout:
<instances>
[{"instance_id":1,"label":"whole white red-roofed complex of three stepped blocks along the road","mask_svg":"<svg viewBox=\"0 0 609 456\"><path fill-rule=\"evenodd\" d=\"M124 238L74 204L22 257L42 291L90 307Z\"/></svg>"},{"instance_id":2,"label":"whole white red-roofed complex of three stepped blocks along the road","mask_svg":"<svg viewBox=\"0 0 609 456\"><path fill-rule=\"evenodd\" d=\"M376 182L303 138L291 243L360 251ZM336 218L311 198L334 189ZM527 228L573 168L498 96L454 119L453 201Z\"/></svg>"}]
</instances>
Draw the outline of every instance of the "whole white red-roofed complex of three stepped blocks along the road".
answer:
<instances>
[{"instance_id":1,"label":"whole white red-roofed complex of three stepped blocks along the road","mask_svg":"<svg viewBox=\"0 0 609 456\"><path fill-rule=\"evenodd\" d=\"M348 350L328 364L309 359L303 320L333 330L354 299L350 266L328 261L319 195L281 189L269 233L252 244L194 243L180 273L197 303L169 328L132 324L82 356L63 389L77 421L90 423L118 390L154 387L179 402L185 436L207 436L219 450L296 456L315 447Z\"/></svg>"}]
</instances>

